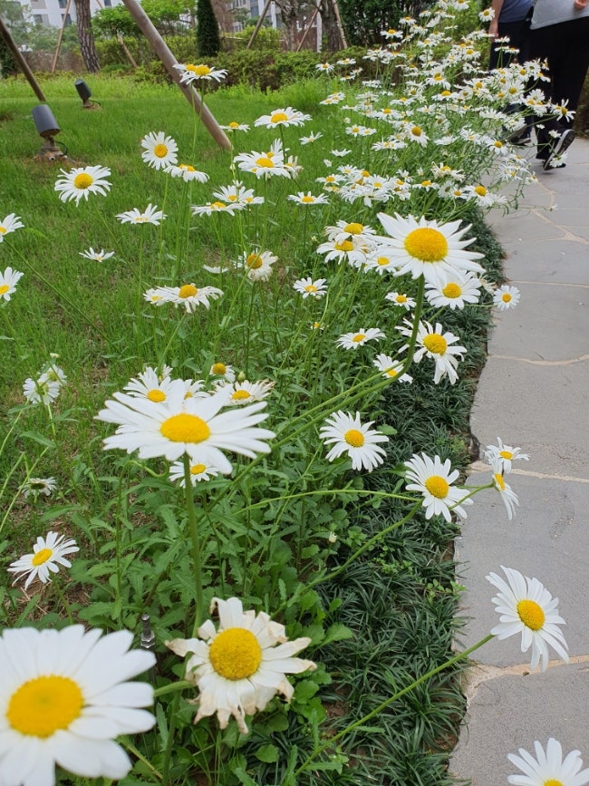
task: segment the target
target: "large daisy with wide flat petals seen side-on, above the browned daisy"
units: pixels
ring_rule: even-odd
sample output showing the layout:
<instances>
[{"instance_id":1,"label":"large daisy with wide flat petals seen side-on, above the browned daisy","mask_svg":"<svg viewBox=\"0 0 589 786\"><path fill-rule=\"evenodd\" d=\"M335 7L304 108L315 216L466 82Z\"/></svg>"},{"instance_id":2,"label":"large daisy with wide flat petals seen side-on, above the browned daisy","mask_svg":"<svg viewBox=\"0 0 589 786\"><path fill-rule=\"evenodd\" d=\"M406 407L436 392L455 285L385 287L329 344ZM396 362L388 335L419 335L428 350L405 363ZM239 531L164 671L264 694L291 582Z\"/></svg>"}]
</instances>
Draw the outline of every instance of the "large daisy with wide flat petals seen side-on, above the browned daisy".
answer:
<instances>
[{"instance_id":1,"label":"large daisy with wide flat petals seen side-on, above the browned daisy","mask_svg":"<svg viewBox=\"0 0 589 786\"><path fill-rule=\"evenodd\" d=\"M266 420L266 402L220 412L231 393L220 390L206 398L186 397L184 380L174 380L165 402L154 403L125 393L114 393L96 419L116 423L116 433L104 440L104 449L139 451L140 459L162 456L177 461L184 454L195 462L217 467L225 475L231 464L221 451L255 459L268 453L274 432L257 428Z\"/></svg>"}]
</instances>

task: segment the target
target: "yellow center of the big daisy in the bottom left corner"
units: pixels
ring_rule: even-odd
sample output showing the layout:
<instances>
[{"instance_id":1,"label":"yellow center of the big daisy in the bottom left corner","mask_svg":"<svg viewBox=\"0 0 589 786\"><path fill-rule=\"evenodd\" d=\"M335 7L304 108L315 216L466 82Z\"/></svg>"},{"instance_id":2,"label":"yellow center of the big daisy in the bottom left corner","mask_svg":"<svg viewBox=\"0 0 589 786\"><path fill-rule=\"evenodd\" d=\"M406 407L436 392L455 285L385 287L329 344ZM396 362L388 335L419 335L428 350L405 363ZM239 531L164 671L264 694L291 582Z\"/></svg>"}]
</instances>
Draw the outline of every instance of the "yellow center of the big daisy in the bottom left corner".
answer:
<instances>
[{"instance_id":1,"label":"yellow center of the big daisy in the bottom left corner","mask_svg":"<svg viewBox=\"0 0 589 786\"><path fill-rule=\"evenodd\" d=\"M6 720L15 732L45 739L69 728L82 704L82 691L69 677L36 677L12 694Z\"/></svg>"}]
</instances>

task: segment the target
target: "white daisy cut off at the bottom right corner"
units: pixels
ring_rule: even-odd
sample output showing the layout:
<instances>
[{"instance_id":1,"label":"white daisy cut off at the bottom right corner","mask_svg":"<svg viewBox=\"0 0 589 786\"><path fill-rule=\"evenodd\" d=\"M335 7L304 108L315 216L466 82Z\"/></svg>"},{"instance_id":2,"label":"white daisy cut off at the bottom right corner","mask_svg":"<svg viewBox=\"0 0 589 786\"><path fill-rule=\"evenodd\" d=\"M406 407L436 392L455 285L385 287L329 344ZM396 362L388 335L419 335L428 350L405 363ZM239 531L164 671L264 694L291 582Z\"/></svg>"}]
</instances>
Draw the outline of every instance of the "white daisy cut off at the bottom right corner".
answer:
<instances>
[{"instance_id":1,"label":"white daisy cut off at the bottom right corner","mask_svg":"<svg viewBox=\"0 0 589 786\"><path fill-rule=\"evenodd\" d=\"M537 740L534 749L536 759L524 748L519 749L519 756L507 754L507 759L524 773L509 775L507 783L513 786L585 786L589 783L589 770L580 771L583 767L580 751L571 751L563 761L562 746L554 737L548 740L546 752Z\"/></svg>"}]
</instances>

